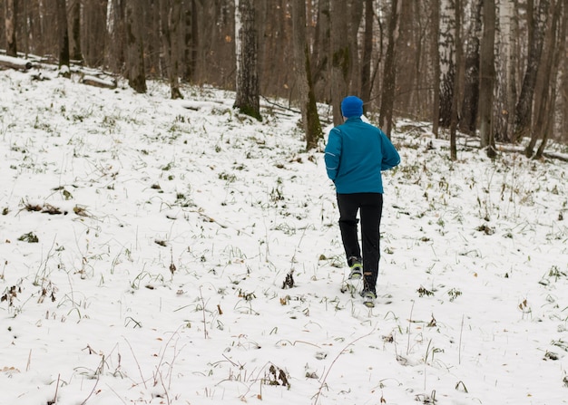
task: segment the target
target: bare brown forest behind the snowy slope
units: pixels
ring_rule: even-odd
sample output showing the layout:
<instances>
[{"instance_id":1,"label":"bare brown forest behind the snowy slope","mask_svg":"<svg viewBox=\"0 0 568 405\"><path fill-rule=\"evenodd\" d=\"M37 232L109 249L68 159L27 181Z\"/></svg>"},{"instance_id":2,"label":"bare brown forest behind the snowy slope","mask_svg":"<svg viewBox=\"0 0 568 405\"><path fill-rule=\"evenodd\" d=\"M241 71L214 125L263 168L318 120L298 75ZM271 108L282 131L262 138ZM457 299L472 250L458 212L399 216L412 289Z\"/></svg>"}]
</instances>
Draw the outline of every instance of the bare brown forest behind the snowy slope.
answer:
<instances>
[{"instance_id":1,"label":"bare brown forest behind the snowy slope","mask_svg":"<svg viewBox=\"0 0 568 405\"><path fill-rule=\"evenodd\" d=\"M9 57L124 77L236 91L302 112L307 148L322 137L316 105L348 94L390 135L397 119L436 137L522 145L539 159L568 142L568 0L1 0ZM272 101L277 102L277 101Z\"/></svg>"}]
</instances>

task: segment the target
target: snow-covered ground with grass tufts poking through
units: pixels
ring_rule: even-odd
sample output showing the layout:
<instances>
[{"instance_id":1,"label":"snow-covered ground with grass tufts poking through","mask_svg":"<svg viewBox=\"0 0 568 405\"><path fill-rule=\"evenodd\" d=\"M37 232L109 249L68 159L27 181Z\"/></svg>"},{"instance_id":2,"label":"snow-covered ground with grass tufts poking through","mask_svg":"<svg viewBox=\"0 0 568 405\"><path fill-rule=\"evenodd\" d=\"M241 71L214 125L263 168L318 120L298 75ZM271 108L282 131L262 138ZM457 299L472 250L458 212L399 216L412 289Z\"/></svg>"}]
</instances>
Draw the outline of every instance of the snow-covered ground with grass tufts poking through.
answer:
<instances>
[{"instance_id":1,"label":"snow-covered ground with grass tufts poking through","mask_svg":"<svg viewBox=\"0 0 568 405\"><path fill-rule=\"evenodd\" d=\"M568 403L565 162L398 122L368 309L299 114L78 81L0 72L0 403Z\"/></svg>"}]
</instances>

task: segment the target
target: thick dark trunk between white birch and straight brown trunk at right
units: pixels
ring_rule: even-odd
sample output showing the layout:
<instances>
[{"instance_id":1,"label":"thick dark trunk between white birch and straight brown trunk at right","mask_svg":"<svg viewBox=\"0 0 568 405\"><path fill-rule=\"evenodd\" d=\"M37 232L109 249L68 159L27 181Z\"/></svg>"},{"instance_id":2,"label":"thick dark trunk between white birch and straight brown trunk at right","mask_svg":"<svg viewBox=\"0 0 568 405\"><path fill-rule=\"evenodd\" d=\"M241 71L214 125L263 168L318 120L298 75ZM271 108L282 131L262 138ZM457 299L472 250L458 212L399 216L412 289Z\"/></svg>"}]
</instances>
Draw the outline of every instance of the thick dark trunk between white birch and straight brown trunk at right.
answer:
<instances>
[{"instance_id":1,"label":"thick dark trunk between white birch and straight brown trunk at right","mask_svg":"<svg viewBox=\"0 0 568 405\"><path fill-rule=\"evenodd\" d=\"M479 103L479 37L483 0L473 0L469 6L469 24L465 50L465 89L459 129L475 134Z\"/></svg>"}]
</instances>

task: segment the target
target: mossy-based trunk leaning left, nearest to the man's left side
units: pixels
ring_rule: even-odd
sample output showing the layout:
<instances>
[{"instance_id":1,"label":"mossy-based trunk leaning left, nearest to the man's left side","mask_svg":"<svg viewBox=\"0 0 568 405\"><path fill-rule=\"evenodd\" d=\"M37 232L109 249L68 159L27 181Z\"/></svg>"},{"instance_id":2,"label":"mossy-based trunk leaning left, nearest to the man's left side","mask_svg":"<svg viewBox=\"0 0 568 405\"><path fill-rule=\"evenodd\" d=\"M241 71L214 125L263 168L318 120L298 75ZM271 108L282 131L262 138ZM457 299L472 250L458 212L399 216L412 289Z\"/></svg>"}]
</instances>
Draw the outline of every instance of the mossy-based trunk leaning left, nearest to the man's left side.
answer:
<instances>
[{"instance_id":1,"label":"mossy-based trunk leaning left, nearest to the man's left side","mask_svg":"<svg viewBox=\"0 0 568 405\"><path fill-rule=\"evenodd\" d=\"M311 82L309 48L306 42L306 2L304 0L294 0L292 3L292 24L294 60L299 83L299 106L306 133L306 149L309 150L318 147L318 141L323 138L323 134Z\"/></svg>"}]
</instances>

